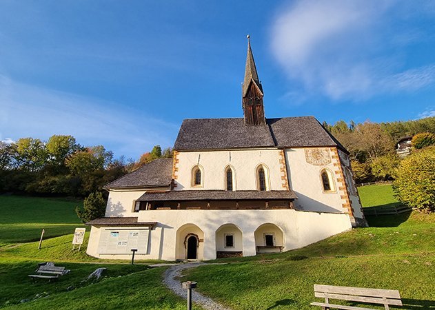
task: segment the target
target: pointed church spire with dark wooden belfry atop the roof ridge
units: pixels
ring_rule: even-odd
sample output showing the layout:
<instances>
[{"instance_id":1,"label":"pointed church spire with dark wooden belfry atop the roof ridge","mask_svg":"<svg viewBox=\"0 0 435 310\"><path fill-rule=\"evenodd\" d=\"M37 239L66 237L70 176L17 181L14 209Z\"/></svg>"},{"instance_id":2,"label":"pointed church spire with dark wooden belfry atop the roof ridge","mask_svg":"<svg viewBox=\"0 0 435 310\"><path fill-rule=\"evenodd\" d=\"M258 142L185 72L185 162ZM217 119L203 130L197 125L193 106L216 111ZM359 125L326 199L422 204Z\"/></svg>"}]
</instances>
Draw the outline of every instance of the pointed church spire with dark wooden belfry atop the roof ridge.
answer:
<instances>
[{"instance_id":1,"label":"pointed church spire with dark wooden belfry atop the roof ridge","mask_svg":"<svg viewBox=\"0 0 435 310\"><path fill-rule=\"evenodd\" d=\"M249 34L247 35L245 78L242 84L242 107L245 125L266 124L263 106L263 86L261 86L259 74L256 72Z\"/></svg>"}]
</instances>

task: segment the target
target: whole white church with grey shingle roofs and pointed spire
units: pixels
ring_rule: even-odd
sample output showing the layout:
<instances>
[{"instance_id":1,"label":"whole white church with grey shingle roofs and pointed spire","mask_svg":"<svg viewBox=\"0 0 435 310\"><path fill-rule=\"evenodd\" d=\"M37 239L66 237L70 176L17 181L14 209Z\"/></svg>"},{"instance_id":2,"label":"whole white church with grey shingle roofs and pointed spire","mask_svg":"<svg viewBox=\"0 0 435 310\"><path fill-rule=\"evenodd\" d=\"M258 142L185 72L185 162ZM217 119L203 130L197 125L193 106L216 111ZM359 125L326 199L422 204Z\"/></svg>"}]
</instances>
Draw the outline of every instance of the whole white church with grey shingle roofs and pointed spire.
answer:
<instances>
[{"instance_id":1,"label":"whole white church with grey shingle roofs and pointed spire","mask_svg":"<svg viewBox=\"0 0 435 310\"><path fill-rule=\"evenodd\" d=\"M173 158L105 185L97 258L211 260L288 251L366 226L349 152L314 116L266 118L247 43L243 118L185 119Z\"/></svg>"}]
</instances>

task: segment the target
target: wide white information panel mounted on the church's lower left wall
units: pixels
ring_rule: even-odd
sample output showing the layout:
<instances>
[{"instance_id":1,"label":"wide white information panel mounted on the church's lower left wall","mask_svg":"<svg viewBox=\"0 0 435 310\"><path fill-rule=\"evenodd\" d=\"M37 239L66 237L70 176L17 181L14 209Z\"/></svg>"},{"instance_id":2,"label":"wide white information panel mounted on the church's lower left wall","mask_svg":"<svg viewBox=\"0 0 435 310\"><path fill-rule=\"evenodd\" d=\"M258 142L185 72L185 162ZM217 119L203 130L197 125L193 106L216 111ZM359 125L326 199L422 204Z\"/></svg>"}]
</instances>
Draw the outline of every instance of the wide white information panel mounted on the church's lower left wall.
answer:
<instances>
[{"instance_id":1,"label":"wide white information panel mounted on the church's lower left wall","mask_svg":"<svg viewBox=\"0 0 435 310\"><path fill-rule=\"evenodd\" d=\"M104 229L101 231L99 254L147 254L150 229Z\"/></svg>"}]
</instances>

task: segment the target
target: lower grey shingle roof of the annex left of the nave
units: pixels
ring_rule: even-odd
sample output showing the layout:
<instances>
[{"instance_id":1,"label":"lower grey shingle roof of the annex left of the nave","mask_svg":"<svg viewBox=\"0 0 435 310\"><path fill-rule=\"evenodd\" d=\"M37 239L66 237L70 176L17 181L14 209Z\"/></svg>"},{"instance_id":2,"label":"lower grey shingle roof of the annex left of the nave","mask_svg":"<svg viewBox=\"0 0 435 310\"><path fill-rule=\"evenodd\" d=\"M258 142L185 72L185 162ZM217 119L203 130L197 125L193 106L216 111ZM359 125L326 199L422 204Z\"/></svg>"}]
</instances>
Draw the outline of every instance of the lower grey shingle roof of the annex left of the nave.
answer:
<instances>
[{"instance_id":1,"label":"lower grey shingle roof of the annex left of the nave","mask_svg":"<svg viewBox=\"0 0 435 310\"><path fill-rule=\"evenodd\" d=\"M159 158L134 172L110 182L104 188L161 187L172 182L172 158Z\"/></svg>"}]
</instances>

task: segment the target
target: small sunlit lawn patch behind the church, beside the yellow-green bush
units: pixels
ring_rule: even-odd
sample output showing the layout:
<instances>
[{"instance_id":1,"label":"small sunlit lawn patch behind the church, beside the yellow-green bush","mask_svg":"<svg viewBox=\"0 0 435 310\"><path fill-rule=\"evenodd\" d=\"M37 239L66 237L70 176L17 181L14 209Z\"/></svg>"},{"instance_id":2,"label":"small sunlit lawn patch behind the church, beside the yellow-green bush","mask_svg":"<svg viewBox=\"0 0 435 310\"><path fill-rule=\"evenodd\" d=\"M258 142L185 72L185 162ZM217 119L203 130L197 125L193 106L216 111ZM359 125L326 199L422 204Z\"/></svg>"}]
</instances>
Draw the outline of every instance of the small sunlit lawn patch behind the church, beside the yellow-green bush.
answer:
<instances>
[{"instance_id":1,"label":"small sunlit lawn patch behind the church, beside the yellow-green bush","mask_svg":"<svg viewBox=\"0 0 435 310\"><path fill-rule=\"evenodd\" d=\"M358 194L363 207L400 205L394 197L393 187L389 184L361 186L358 187Z\"/></svg>"}]
</instances>

